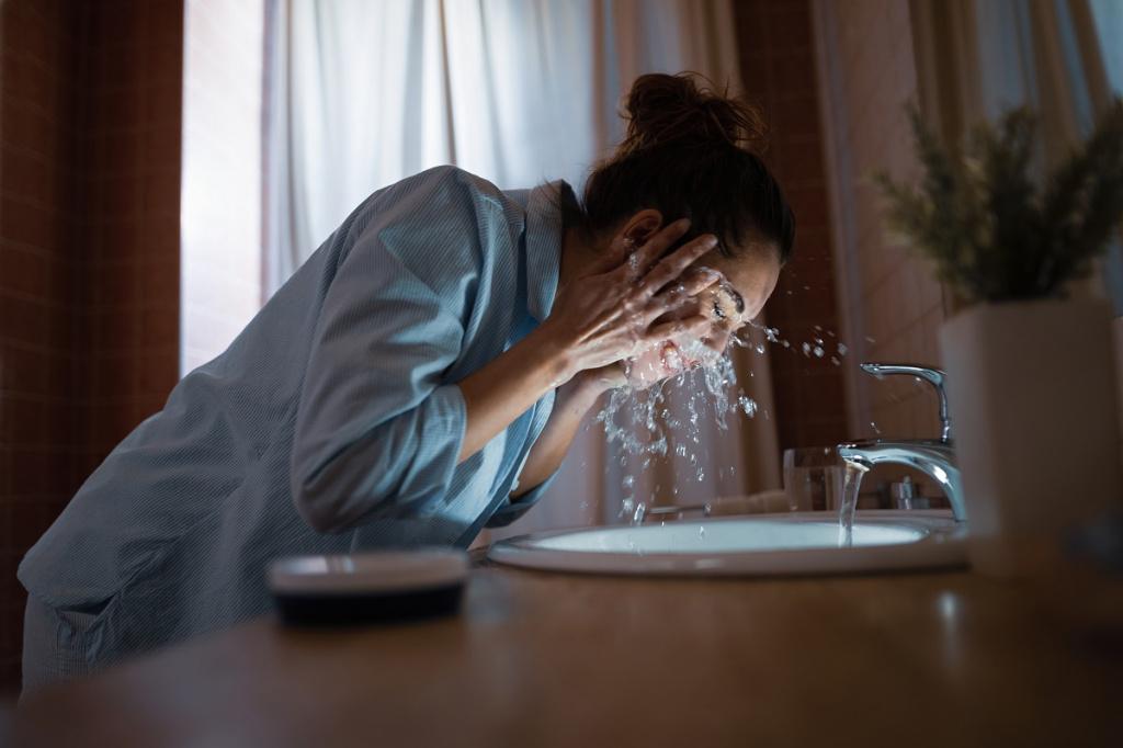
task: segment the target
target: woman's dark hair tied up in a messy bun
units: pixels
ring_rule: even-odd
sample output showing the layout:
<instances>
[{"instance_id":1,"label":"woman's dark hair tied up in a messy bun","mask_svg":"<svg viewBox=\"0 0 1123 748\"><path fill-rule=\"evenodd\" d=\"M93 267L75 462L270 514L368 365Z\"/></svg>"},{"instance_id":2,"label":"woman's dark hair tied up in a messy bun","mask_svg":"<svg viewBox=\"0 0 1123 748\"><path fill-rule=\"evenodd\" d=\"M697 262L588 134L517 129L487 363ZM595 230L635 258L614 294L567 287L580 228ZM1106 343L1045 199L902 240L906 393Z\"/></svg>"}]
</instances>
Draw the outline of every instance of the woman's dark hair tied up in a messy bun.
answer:
<instances>
[{"instance_id":1,"label":"woman's dark hair tied up in a messy bun","mask_svg":"<svg viewBox=\"0 0 1123 748\"><path fill-rule=\"evenodd\" d=\"M728 91L700 88L695 73L641 75L628 93L628 135L597 164L578 203L563 195L567 226L594 237L645 208L666 221L690 218L683 241L718 237L731 255L754 238L775 243L780 263L792 255L795 216L757 155L765 127L759 112ZM679 243L681 244L681 243Z\"/></svg>"}]
</instances>

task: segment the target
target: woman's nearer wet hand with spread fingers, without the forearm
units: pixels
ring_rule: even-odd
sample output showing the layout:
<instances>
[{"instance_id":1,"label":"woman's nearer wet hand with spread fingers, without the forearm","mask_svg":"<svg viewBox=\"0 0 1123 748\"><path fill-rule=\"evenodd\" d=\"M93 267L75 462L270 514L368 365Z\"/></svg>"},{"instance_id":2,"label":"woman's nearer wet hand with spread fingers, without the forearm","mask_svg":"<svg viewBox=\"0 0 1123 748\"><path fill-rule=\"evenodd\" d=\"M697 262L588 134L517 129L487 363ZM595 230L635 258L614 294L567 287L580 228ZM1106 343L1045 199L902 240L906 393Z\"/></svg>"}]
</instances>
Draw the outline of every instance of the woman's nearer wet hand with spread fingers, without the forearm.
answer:
<instances>
[{"instance_id":1,"label":"woman's nearer wet hand with spread fingers, without the forearm","mask_svg":"<svg viewBox=\"0 0 1123 748\"><path fill-rule=\"evenodd\" d=\"M657 322L721 279L711 270L684 276L716 246L712 235L697 237L660 259L688 228L687 219L677 220L638 248L621 234L604 259L559 290L540 330L565 352L563 381L632 358L673 337L706 334L710 320L702 314Z\"/></svg>"}]
</instances>

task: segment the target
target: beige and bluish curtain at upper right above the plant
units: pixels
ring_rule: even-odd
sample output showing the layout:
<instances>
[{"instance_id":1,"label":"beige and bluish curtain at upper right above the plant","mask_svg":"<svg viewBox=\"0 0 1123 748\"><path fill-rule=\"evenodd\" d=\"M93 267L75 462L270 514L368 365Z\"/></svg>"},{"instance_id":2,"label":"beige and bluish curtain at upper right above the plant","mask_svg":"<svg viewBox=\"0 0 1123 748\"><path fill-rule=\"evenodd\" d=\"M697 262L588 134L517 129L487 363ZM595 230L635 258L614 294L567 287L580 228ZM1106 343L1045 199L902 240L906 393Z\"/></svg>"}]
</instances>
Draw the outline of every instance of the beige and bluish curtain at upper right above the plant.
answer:
<instances>
[{"instance_id":1,"label":"beige and bluish curtain at upper right above the plant","mask_svg":"<svg viewBox=\"0 0 1123 748\"><path fill-rule=\"evenodd\" d=\"M1046 156L1065 156L1123 93L1123 3L1119 0L913 0L921 106L944 136L1030 104ZM1092 292L1123 314L1123 255L1116 241Z\"/></svg>"}]
</instances>

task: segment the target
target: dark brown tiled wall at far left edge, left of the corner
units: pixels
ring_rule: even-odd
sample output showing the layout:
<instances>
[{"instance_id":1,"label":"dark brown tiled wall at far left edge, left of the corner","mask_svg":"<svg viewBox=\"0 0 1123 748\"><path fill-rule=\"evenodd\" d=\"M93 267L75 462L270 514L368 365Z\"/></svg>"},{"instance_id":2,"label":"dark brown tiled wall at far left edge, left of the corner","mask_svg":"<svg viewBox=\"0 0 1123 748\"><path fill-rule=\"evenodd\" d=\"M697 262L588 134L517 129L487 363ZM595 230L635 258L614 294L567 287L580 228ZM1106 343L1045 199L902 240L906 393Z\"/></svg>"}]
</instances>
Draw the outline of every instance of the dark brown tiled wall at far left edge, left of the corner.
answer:
<instances>
[{"instance_id":1,"label":"dark brown tiled wall at far left edge, left of the corner","mask_svg":"<svg viewBox=\"0 0 1123 748\"><path fill-rule=\"evenodd\" d=\"M62 2L0 6L0 681L18 674L16 564L66 501L82 439L61 392L74 353L63 158ZM60 437L70 430L69 439ZM64 446L70 443L70 447Z\"/></svg>"}]
</instances>

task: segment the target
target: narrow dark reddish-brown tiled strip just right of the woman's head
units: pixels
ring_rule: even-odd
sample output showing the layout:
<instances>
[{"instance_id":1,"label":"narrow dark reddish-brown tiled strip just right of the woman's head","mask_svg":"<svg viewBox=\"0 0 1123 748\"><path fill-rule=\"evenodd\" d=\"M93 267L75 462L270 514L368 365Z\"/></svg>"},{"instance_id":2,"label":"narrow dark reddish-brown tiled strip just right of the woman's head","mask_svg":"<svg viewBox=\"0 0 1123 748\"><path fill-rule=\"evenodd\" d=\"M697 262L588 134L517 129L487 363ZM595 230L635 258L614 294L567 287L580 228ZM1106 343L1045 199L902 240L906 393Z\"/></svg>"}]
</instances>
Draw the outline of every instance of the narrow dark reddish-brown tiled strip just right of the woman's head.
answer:
<instances>
[{"instance_id":1,"label":"narrow dark reddish-brown tiled strip just right of the woman's head","mask_svg":"<svg viewBox=\"0 0 1123 748\"><path fill-rule=\"evenodd\" d=\"M841 330L810 2L740 0L733 8L742 85L768 119L765 157L797 222L794 258L765 308L768 325L789 343L773 345L770 356L779 447L838 444L849 435L842 366L831 362ZM836 357L852 365L849 356Z\"/></svg>"}]
</instances>

